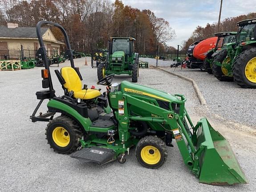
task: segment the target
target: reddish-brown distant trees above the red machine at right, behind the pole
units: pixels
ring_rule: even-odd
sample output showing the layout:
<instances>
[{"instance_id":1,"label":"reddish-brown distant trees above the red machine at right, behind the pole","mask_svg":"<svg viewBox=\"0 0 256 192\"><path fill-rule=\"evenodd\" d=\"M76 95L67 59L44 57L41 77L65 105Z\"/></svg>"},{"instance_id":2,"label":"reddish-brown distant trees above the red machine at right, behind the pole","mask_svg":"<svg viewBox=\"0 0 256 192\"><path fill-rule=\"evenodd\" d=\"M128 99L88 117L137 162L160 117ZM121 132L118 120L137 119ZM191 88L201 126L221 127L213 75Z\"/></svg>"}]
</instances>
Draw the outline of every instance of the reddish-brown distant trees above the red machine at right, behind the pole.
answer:
<instances>
[{"instance_id":1,"label":"reddish-brown distant trees above the red machine at right, behind the pole","mask_svg":"<svg viewBox=\"0 0 256 192\"><path fill-rule=\"evenodd\" d=\"M237 22L253 18L256 18L256 12L248 13L247 15L226 18L222 22L220 22L219 31L217 30L217 23L208 23L205 27L197 26L192 35L190 36L190 38L188 40L183 41L183 50L187 50L189 45L191 45L197 40L202 40L214 36L216 32L236 32L238 30L238 27L236 26Z\"/></svg>"}]
</instances>

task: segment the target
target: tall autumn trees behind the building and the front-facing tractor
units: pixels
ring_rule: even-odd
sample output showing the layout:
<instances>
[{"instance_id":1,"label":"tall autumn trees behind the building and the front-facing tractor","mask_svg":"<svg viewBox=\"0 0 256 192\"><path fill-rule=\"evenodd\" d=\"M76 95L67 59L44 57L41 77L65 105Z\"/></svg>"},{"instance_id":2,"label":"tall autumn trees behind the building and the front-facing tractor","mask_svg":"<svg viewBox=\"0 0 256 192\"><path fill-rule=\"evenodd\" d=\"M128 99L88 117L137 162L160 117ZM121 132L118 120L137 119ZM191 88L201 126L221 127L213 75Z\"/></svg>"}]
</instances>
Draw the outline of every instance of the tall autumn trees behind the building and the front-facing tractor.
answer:
<instances>
[{"instance_id":1,"label":"tall autumn trees behind the building and the front-facing tractor","mask_svg":"<svg viewBox=\"0 0 256 192\"><path fill-rule=\"evenodd\" d=\"M111 36L134 37L139 54L155 55L156 47L167 49L166 42L175 37L169 22L150 10L124 5L122 0L0 0L0 25L18 23L20 27L35 27L40 20L61 24L69 35L72 48L90 52L92 48L107 48ZM51 28L57 40L64 37Z\"/></svg>"}]
</instances>

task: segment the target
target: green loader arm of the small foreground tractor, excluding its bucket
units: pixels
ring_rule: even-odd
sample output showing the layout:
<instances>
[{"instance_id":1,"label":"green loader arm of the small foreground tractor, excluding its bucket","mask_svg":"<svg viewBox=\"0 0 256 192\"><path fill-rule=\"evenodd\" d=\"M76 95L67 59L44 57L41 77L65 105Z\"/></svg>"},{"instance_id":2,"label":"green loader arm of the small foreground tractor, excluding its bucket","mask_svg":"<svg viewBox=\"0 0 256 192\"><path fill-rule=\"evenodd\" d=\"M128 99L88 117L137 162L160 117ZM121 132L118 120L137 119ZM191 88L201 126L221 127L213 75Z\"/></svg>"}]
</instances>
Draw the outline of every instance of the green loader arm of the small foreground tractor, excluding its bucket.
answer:
<instances>
[{"instance_id":1,"label":"green loader arm of the small foreground tractor, excluding its bucket","mask_svg":"<svg viewBox=\"0 0 256 192\"><path fill-rule=\"evenodd\" d=\"M126 102L127 108L129 108L129 105L137 106L143 110L146 110L150 113L154 113L155 115L159 117L152 117L152 116L132 116L129 115L127 118L126 116L119 116L118 112L116 112L116 115L118 116L118 119L120 119L119 122L119 134L120 136L126 135L128 129L128 121L130 120L139 120L139 121L149 121L149 122L156 122L159 124L167 124L169 125L170 132L173 133L173 136L177 142L177 145L179 147L179 150L181 152L181 155L183 157L183 160L185 164L188 166L190 170L192 170L194 165L194 160L192 158L192 153L187 148L186 141L188 142L190 148L192 149L192 152L195 152L195 147L191 140L191 132L185 128L183 125L184 116L188 116L186 111L183 111L183 115L179 116L179 114L174 113L171 110L166 110L164 108L160 108L154 104L150 104L144 100L139 100L135 98L134 96L130 96L128 94L123 94L122 98L124 98L124 101ZM184 102L180 100L180 104L184 105ZM127 111L128 112L128 111ZM126 114L126 112L125 112ZM123 124L122 122L126 122L127 124ZM191 122L191 121L190 121ZM192 125L193 126L193 125ZM185 137L185 138L184 138ZM125 136L126 138L126 136Z\"/></svg>"}]
</instances>

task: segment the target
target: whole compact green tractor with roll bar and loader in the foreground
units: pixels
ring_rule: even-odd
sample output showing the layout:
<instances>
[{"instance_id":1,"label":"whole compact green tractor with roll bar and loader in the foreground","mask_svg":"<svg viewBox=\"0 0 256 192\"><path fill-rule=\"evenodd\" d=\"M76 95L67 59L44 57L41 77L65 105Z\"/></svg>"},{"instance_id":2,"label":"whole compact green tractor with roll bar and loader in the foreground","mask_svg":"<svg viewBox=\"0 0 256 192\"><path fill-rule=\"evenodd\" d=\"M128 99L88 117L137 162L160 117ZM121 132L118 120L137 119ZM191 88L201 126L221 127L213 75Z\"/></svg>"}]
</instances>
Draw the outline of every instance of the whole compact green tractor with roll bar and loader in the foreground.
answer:
<instances>
[{"instance_id":1,"label":"whole compact green tractor with roll bar and loader in the foreground","mask_svg":"<svg viewBox=\"0 0 256 192\"><path fill-rule=\"evenodd\" d=\"M55 96L53 83L41 36L41 25L52 24L65 36L71 67L55 70L64 89L63 96ZM128 81L111 83L114 74L97 84L100 89L82 88L82 77L75 68L72 50L65 29L49 21L37 24L45 69L42 86L36 93L40 100L30 119L48 121L46 139L58 153L72 153L71 157L100 165L118 160L126 162L126 155L135 148L138 162L146 168L159 168L167 160L167 146L175 140L187 168L206 184L244 184L247 180L228 141L215 131L206 118L193 125L185 108L183 95L171 95ZM44 100L49 100L46 113L36 116ZM173 154L175 155L175 154Z\"/></svg>"}]
</instances>

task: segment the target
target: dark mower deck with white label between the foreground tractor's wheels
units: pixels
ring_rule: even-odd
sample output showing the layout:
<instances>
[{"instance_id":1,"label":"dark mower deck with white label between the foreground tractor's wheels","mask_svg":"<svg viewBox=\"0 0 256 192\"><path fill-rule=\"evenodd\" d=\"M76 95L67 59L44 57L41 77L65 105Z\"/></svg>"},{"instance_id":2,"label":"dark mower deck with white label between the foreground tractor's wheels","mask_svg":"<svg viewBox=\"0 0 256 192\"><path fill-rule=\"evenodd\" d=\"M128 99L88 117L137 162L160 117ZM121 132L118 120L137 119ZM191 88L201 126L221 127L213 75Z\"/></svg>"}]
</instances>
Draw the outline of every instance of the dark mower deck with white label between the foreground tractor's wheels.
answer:
<instances>
[{"instance_id":1,"label":"dark mower deck with white label between the foreground tractor's wheels","mask_svg":"<svg viewBox=\"0 0 256 192\"><path fill-rule=\"evenodd\" d=\"M115 152L112 149L100 147L83 148L71 154L71 157L73 158L83 160L87 163L94 162L99 165L115 160L114 156Z\"/></svg>"}]
</instances>

